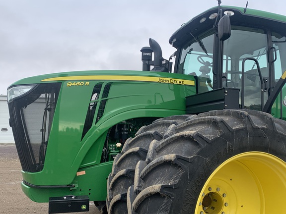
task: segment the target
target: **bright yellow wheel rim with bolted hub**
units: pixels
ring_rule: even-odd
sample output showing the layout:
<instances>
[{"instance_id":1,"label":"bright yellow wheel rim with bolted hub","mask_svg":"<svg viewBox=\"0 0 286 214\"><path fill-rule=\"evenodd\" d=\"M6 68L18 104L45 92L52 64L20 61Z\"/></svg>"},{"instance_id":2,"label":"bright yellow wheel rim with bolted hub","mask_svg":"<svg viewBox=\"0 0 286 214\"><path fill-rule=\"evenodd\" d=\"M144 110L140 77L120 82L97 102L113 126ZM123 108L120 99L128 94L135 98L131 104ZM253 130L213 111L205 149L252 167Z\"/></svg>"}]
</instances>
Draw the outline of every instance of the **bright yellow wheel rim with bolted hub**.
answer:
<instances>
[{"instance_id":1,"label":"bright yellow wheel rim with bolted hub","mask_svg":"<svg viewBox=\"0 0 286 214\"><path fill-rule=\"evenodd\" d=\"M217 167L195 214L284 213L286 162L262 152L236 155Z\"/></svg>"}]
</instances>

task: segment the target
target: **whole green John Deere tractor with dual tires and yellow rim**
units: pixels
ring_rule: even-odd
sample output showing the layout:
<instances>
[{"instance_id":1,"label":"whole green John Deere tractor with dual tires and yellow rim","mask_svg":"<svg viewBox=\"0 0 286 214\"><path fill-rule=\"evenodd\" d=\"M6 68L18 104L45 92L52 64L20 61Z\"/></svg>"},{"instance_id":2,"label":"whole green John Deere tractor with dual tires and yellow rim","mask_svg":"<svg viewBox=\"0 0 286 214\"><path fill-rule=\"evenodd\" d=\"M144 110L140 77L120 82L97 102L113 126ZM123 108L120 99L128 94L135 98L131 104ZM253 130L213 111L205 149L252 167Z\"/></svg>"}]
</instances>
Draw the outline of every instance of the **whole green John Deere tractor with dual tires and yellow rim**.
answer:
<instances>
[{"instance_id":1,"label":"whole green John Deere tractor with dual tires and yellow rim","mask_svg":"<svg viewBox=\"0 0 286 214\"><path fill-rule=\"evenodd\" d=\"M49 213L283 213L286 16L218 2L171 36L168 60L150 39L143 71L9 86L31 200Z\"/></svg>"}]
</instances>

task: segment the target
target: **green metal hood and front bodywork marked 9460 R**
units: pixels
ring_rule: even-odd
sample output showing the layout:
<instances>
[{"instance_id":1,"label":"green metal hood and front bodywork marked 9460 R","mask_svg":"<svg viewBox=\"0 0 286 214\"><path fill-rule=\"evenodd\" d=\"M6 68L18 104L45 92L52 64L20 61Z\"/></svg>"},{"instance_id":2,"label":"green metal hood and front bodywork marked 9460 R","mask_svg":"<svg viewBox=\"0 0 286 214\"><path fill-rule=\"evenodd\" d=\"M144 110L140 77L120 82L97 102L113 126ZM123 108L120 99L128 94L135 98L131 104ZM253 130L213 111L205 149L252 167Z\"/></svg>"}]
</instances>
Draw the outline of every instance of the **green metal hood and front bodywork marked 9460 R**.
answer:
<instances>
[{"instance_id":1,"label":"green metal hood and front bodywork marked 9460 R","mask_svg":"<svg viewBox=\"0 0 286 214\"><path fill-rule=\"evenodd\" d=\"M97 80L97 77L99 80ZM100 163L107 131L131 118L184 114L185 97L196 93L191 75L144 71L82 71L36 76L13 85L62 82L42 171L24 172L23 180L36 186L74 184L75 188L31 188L24 193L36 202L49 197L89 195L106 198L106 178L112 162ZM104 114L81 139L90 97L96 84L111 84ZM84 171L83 175L77 175ZM80 173L79 173L80 174ZM90 190L89 190L90 189Z\"/></svg>"}]
</instances>

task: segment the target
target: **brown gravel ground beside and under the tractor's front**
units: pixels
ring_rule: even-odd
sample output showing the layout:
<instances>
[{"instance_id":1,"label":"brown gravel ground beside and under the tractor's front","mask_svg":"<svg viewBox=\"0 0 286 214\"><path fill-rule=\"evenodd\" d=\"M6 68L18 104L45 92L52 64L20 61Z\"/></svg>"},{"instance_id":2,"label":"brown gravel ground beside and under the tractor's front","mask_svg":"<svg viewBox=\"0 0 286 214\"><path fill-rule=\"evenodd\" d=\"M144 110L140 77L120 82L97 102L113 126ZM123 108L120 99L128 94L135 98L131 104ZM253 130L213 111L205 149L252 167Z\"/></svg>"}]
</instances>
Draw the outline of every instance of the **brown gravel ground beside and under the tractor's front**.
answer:
<instances>
[{"instance_id":1,"label":"brown gravel ground beside and under the tractor's front","mask_svg":"<svg viewBox=\"0 0 286 214\"><path fill-rule=\"evenodd\" d=\"M31 201L21 189L21 164L13 144L0 144L0 214L48 214L48 203ZM91 202L89 212L100 214Z\"/></svg>"}]
</instances>

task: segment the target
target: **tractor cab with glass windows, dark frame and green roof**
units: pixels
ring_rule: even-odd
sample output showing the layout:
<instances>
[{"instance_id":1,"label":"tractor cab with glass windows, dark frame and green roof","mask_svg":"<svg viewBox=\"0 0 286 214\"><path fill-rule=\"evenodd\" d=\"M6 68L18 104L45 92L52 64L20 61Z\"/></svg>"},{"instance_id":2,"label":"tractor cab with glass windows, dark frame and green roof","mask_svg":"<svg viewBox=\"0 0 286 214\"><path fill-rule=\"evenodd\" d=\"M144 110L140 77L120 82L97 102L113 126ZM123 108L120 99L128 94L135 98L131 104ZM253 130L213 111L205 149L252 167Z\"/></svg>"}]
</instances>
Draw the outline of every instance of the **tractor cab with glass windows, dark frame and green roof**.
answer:
<instances>
[{"instance_id":1,"label":"tractor cab with glass windows, dark frame and green roof","mask_svg":"<svg viewBox=\"0 0 286 214\"><path fill-rule=\"evenodd\" d=\"M286 70L283 16L214 7L182 25L169 43L177 48L174 72L194 75L197 94L237 89L240 108L263 110L267 104L265 111L272 108L273 114L283 117L283 85L278 84ZM275 87L280 89L276 95L272 94Z\"/></svg>"}]
</instances>

